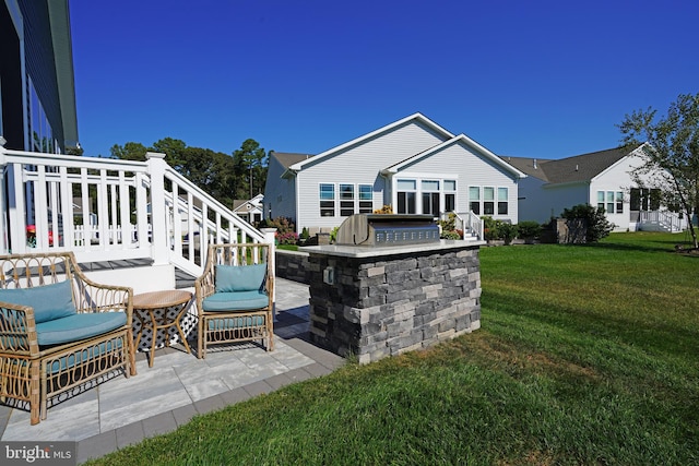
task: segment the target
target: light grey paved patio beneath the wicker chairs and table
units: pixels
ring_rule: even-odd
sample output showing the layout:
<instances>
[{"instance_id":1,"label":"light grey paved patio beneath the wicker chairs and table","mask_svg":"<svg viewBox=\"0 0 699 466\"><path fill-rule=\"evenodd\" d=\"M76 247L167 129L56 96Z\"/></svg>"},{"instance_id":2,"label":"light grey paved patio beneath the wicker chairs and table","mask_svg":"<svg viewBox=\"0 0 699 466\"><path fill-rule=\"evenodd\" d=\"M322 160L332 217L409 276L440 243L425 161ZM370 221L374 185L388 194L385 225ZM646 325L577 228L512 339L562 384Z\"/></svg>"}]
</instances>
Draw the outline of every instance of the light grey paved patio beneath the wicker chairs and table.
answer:
<instances>
[{"instance_id":1,"label":"light grey paved patio beneath the wicker chairs and table","mask_svg":"<svg viewBox=\"0 0 699 466\"><path fill-rule=\"evenodd\" d=\"M214 348L205 359L197 359L174 345L156 351L152 368L147 354L139 353L138 375L118 374L61 399L36 426L29 425L28 411L0 405L0 440L74 441L76 461L82 463L173 431L193 416L342 366L343 358L308 342L308 286L277 278L275 288L274 351L238 344Z\"/></svg>"}]
</instances>

